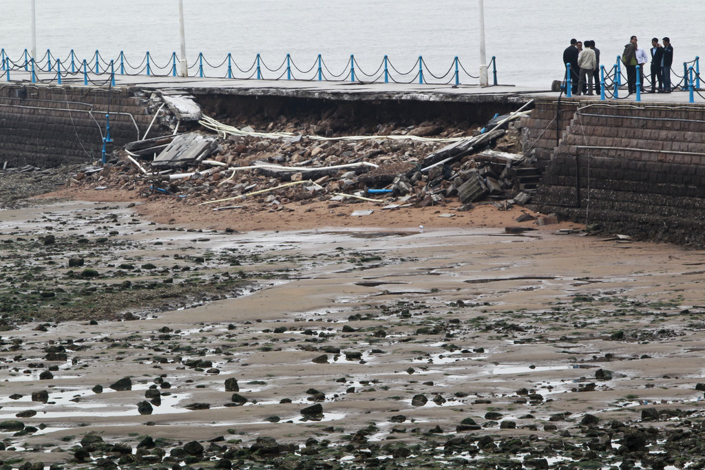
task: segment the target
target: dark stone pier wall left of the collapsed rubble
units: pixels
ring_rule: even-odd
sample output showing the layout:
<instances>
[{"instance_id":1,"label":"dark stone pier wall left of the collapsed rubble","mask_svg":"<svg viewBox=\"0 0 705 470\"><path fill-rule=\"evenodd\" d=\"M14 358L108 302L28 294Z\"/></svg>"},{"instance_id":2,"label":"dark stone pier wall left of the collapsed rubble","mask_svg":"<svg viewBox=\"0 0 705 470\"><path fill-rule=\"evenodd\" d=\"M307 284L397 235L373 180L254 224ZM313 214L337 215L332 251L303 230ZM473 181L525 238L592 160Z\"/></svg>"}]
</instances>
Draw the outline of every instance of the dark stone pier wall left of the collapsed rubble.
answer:
<instances>
[{"instance_id":1,"label":"dark stone pier wall left of the collapsed rubble","mask_svg":"<svg viewBox=\"0 0 705 470\"><path fill-rule=\"evenodd\" d=\"M153 116L135 92L0 85L0 165L46 168L99 159L109 101L114 147L145 134Z\"/></svg>"}]
</instances>

